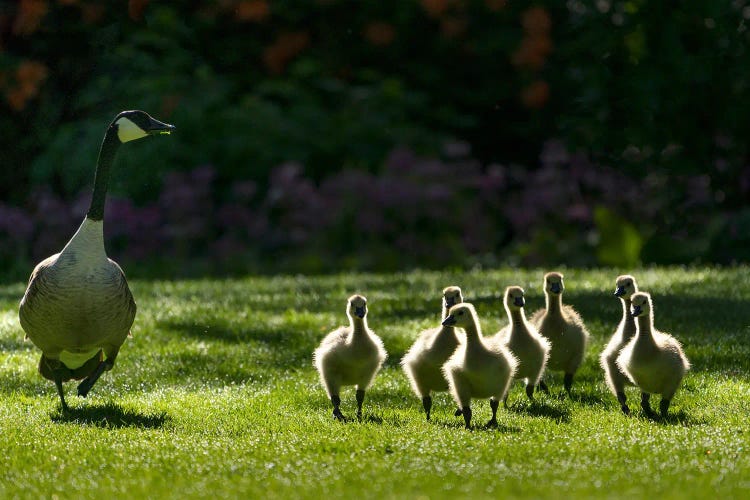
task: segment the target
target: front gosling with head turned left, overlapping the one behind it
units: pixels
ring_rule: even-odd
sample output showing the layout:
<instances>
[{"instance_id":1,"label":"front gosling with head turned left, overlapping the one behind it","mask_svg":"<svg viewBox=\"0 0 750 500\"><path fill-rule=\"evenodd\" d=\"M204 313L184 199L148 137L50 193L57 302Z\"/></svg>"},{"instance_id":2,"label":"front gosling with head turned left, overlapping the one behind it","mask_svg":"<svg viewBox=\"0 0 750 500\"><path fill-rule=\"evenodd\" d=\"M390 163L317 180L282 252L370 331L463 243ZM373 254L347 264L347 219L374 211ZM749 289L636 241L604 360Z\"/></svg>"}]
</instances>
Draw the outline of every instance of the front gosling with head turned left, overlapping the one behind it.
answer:
<instances>
[{"instance_id":1,"label":"front gosling with head turned left, overlapping the one behind it","mask_svg":"<svg viewBox=\"0 0 750 500\"><path fill-rule=\"evenodd\" d=\"M466 331L466 341L443 365L443 373L453 399L461 409L467 429L471 429L471 398L490 398L492 418L488 426L497 426L497 407L505 399L518 361L502 344L482 337L477 313L469 303L453 306L443 326Z\"/></svg>"}]
</instances>

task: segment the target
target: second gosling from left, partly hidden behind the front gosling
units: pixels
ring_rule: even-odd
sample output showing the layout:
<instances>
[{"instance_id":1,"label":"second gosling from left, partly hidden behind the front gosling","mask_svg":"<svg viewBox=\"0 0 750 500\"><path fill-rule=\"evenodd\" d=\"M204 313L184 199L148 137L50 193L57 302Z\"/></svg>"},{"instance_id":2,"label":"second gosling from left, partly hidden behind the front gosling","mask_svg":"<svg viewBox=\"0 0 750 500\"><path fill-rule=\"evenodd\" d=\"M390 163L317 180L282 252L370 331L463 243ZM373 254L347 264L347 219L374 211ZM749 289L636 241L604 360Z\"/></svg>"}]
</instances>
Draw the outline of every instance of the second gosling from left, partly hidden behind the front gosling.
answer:
<instances>
[{"instance_id":1,"label":"second gosling from left, partly hidden behind the front gosling","mask_svg":"<svg viewBox=\"0 0 750 500\"><path fill-rule=\"evenodd\" d=\"M449 286L443 290L443 313L441 321L448 317L448 310L455 304L464 301L461 289ZM455 328L441 325L422 331L417 340L401 360L401 367L409 379L414 393L422 398L427 420L430 420L432 409L432 391L448 390L448 381L443 375L442 367L458 346Z\"/></svg>"}]
</instances>

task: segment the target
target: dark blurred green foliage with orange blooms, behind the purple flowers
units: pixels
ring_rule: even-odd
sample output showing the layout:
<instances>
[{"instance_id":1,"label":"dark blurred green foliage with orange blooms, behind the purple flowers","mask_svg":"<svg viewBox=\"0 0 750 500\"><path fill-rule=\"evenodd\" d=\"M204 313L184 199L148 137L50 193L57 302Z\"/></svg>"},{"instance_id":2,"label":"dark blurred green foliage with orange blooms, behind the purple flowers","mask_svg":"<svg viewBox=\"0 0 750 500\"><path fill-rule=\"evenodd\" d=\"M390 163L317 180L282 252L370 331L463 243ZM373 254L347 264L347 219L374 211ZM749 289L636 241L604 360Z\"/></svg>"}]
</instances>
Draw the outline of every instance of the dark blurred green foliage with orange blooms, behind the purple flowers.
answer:
<instances>
[{"instance_id":1,"label":"dark blurred green foliage with orange blooms, behind the purple flowers","mask_svg":"<svg viewBox=\"0 0 750 500\"><path fill-rule=\"evenodd\" d=\"M0 197L21 206L47 186L72 199L127 108L179 131L120 154L113 192L139 204L204 164L223 196L237 181L266 188L288 161L322 182L456 139L484 168L534 170L557 139L664 198L648 220L599 211L599 229L631 223L612 241L643 243L621 264L742 260L748 18L745 0L3 2ZM523 255L581 246L575 228L530 234Z\"/></svg>"}]
</instances>

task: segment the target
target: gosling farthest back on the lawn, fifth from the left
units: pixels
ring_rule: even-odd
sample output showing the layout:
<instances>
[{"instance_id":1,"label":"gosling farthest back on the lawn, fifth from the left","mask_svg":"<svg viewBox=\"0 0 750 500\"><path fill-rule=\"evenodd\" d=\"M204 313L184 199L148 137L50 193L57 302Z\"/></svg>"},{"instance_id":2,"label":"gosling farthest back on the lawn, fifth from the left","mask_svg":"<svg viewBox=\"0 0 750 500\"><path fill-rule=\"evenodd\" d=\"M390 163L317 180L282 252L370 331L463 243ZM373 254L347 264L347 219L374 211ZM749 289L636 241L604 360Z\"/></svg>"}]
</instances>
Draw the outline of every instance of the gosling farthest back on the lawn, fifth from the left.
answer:
<instances>
[{"instance_id":1,"label":"gosling farthest back on the lawn, fifth from the left","mask_svg":"<svg viewBox=\"0 0 750 500\"><path fill-rule=\"evenodd\" d=\"M547 307L535 312L530 321L552 344L547 369L565 373L563 385L570 397L573 377L583 362L589 332L576 310L569 305L563 305L563 290L565 290L565 284L562 274L556 272L545 274L544 296ZM549 392L544 380L539 381L539 387Z\"/></svg>"}]
</instances>

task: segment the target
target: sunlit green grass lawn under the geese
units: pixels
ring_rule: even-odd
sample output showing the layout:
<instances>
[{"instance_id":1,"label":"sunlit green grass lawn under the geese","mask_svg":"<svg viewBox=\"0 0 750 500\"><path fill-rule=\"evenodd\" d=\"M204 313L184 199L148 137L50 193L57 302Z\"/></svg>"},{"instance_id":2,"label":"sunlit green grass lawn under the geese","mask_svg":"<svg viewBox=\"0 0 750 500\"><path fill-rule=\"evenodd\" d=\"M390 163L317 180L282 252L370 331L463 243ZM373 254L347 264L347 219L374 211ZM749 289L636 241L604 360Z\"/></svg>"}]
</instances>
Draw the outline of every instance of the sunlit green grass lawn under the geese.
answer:
<instances>
[{"instance_id":1,"label":"sunlit green grass lawn under the geese","mask_svg":"<svg viewBox=\"0 0 750 500\"><path fill-rule=\"evenodd\" d=\"M18 324L24 284L0 286L0 497L747 497L750 268L634 272L693 365L667 421L643 417L634 388L624 416L598 366L619 272L564 273L592 334L573 400L560 374L533 406L517 383L499 428L473 431L447 394L427 423L398 362L437 325L444 286L463 288L491 334L506 285L526 288L527 313L543 306L543 270L134 281L133 338L89 398L66 384L65 416ZM311 355L354 292L389 358L363 421L339 423ZM353 415L354 390L342 400ZM473 408L489 419L487 401Z\"/></svg>"}]
</instances>

